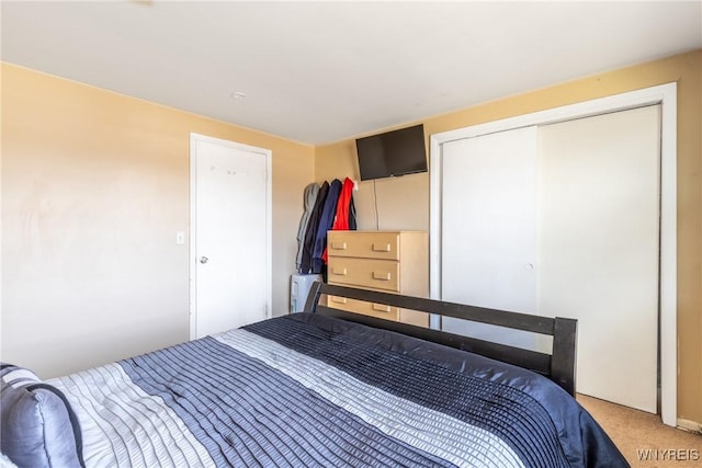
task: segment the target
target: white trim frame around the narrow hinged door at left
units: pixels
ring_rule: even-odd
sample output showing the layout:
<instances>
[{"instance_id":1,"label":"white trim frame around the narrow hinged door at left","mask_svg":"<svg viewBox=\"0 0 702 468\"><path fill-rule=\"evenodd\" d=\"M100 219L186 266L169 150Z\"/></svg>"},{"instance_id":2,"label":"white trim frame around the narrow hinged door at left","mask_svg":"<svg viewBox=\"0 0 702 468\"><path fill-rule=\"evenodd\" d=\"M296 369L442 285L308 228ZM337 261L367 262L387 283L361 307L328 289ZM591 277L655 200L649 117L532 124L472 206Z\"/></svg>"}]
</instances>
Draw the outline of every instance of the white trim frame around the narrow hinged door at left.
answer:
<instances>
[{"instance_id":1,"label":"white trim frame around the narrow hinged door at left","mask_svg":"<svg viewBox=\"0 0 702 468\"><path fill-rule=\"evenodd\" d=\"M189 252L189 277L190 277L190 340L194 340L196 338L196 328L197 328L197 282L196 282L196 272L197 272L197 259L196 259L196 229L197 225L197 213L196 213L196 184L197 184L197 170L196 170L196 157L197 157L197 142L205 141L213 145L226 146L229 148L241 149L249 152L256 152L265 158L265 318L271 317L271 305L272 305L272 252L273 252L273 243L272 243L272 156L273 151L265 148L259 148L251 145L245 145L237 141L225 140L220 138L210 137L206 135L201 135L191 132L190 133L190 252Z\"/></svg>"}]
</instances>

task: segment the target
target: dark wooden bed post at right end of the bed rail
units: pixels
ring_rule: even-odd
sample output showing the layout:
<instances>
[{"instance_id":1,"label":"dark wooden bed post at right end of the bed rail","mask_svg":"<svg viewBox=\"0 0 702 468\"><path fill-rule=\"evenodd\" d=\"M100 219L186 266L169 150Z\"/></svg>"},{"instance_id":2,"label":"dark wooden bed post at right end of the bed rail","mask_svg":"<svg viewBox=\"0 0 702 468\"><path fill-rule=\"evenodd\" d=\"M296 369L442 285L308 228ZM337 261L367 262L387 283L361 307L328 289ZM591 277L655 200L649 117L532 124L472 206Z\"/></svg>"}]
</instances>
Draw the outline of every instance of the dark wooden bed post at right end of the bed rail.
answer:
<instances>
[{"instance_id":1,"label":"dark wooden bed post at right end of the bed rail","mask_svg":"<svg viewBox=\"0 0 702 468\"><path fill-rule=\"evenodd\" d=\"M577 339L578 321L556 317L553 330L551 376L553 380L574 397Z\"/></svg>"}]
</instances>

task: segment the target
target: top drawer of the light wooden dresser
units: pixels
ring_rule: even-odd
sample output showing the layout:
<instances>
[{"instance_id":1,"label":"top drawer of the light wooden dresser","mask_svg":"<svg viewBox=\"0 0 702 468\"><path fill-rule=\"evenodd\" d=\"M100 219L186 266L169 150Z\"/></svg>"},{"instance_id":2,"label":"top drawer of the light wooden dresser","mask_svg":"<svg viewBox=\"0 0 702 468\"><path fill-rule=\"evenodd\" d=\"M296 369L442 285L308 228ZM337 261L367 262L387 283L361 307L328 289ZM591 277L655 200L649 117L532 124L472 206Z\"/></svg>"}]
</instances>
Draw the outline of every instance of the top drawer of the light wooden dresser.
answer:
<instances>
[{"instance_id":1,"label":"top drawer of the light wooden dresser","mask_svg":"<svg viewBox=\"0 0 702 468\"><path fill-rule=\"evenodd\" d=\"M329 231L327 248L329 256L399 260L399 233Z\"/></svg>"}]
</instances>

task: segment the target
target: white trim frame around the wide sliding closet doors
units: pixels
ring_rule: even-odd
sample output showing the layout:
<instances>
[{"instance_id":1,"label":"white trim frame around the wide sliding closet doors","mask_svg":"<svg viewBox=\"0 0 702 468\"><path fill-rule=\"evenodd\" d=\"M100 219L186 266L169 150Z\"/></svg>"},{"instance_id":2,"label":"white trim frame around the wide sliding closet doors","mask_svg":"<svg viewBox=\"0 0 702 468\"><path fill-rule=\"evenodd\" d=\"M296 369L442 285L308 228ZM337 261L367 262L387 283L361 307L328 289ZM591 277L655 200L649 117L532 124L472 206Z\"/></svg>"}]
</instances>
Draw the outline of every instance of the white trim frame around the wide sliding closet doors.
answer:
<instances>
[{"instance_id":1,"label":"white trim frame around the wide sliding closet doors","mask_svg":"<svg viewBox=\"0 0 702 468\"><path fill-rule=\"evenodd\" d=\"M614 94L577 104L473 125L430 136L430 297L441 298L441 168L442 145L531 125L660 104L660 413L664 424L677 425L677 83ZM431 318L431 327L439 320Z\"/></svg>"}]
</instances>

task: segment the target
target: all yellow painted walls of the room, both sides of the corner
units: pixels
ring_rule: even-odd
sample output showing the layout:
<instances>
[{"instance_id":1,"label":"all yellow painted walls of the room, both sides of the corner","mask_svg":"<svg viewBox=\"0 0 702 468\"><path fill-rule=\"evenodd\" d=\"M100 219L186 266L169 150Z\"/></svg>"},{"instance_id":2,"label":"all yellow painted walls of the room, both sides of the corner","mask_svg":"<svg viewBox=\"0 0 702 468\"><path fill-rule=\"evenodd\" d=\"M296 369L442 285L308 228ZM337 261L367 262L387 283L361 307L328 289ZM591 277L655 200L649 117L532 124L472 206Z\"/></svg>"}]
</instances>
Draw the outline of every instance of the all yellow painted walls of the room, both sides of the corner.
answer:
<instances>
[{"instance_id":1,"label":"all yellow painted walls of the room, both sides of the corner","mask_svg":"<svg viewBox=\"0 0 702 468\"><path fill-rule=\"evenodd\" d=\"M678 82L678 415L698 422L701 62L698 50L423 121L431 135ZM312 148L7 64L1 80L0 352L45 377L188 339L188 249L174 233L188 231L190 132L273 151L279 313L287 309L304 186L358 180L353 140ZM426 173L361 182L354 198L361 229L429 228Z\"/></svg>"}]
</instances>

